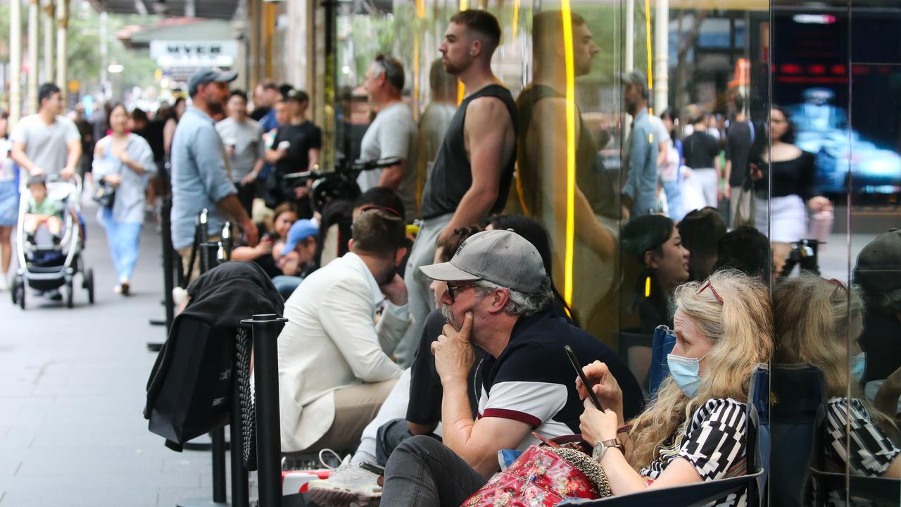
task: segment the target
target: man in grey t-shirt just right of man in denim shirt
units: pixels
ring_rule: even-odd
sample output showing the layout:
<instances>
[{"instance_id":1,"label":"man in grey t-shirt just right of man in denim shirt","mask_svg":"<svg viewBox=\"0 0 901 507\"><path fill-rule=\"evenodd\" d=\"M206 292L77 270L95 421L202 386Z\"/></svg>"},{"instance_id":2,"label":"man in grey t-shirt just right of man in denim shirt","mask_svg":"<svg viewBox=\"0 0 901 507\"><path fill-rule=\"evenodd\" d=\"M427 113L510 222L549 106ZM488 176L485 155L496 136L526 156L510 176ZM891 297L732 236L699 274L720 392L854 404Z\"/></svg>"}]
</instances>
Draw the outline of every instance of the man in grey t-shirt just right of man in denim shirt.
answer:
<instances>
[{"instance_id":1,"label":"man in grey t-shirt just right of man in denim shirt","mask_svg":"<svg viewBox=\"0 0 901 507\"><path fill-rule=\"evenodd\" d=\"M216 124L216 132L222 137L232 161L232 183L238 189L238 200L250 215L257 192L257 176L266 156L263 129L248 117L247 95L241 90L232 90L226 110L229 116Z\"/></svg>"}]
</instances>

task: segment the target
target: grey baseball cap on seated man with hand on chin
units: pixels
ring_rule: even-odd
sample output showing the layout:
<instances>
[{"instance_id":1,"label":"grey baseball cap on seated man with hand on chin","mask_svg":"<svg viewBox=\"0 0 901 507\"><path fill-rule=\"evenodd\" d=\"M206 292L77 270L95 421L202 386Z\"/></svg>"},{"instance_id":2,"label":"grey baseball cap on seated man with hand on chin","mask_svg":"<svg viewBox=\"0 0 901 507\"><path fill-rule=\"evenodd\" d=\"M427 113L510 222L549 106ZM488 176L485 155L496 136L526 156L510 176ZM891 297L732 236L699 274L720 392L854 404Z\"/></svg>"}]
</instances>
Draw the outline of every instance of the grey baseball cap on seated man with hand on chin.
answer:
<instances>
[{"instance_id":1,"label":"grey baseball cap on seated man with hand on chin","mask_svg":"<svg viewBox=\"0 0 901 507\"><path fill-rule=\"evenodd\" d=\"M419 269L432 280L485 280L530 294L541 292L547 283L542 255L512 230L471 235L450 262Z\"/></svg>"}]
</instances>

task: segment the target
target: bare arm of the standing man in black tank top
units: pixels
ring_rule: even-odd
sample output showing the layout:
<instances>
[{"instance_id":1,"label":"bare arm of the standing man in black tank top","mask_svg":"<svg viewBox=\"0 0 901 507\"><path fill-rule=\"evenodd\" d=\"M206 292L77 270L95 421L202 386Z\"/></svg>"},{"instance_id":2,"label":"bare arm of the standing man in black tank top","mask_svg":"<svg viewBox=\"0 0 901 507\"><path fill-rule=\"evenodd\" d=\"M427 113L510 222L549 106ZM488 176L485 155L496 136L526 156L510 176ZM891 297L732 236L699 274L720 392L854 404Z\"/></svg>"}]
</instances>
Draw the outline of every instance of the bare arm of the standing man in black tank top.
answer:
<instances>
[{"instance_id":1,"label":"bare arm of the standing man in black tank top","mask_svg":"<svg viewBox=\"0 0 901 507\"><path fill-rule=\"evenodd\" d=\"M470 102L463 133L469 144L472 185L460 199L451 222L441 231L441 236L485 219L500 192L501 172L514 156L516 139L513 120L498 98L481 97Z\"/></svg>"}]
</instances>

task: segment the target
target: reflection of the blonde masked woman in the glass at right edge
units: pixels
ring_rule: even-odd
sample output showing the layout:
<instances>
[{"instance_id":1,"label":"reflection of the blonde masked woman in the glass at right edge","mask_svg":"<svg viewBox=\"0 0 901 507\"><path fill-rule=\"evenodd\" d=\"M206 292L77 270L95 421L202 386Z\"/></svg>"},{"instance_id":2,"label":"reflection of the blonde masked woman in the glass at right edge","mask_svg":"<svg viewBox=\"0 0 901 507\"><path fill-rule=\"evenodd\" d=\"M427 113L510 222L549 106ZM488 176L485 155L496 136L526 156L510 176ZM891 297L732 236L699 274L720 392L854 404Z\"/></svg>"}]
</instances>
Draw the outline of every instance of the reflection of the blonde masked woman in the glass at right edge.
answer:
<instances>
[{"instance_id":1,"label":"reflection of the blonde masked woman in the glass at right edge","mask_svg":"<svg viewBox=\"0 0 901 507\"><path fill-rule=\"evenodd\" d=\"M898 429L860 390L866 366L858 345L863 330L860 290L805 274L779 281L773 306L774 361L810 363L823 371L828 397L822 435L826 468L843 473L848 466L854 475L901 478L901 449L891 439L897 438Z\"/></svg>"}]
</instances>

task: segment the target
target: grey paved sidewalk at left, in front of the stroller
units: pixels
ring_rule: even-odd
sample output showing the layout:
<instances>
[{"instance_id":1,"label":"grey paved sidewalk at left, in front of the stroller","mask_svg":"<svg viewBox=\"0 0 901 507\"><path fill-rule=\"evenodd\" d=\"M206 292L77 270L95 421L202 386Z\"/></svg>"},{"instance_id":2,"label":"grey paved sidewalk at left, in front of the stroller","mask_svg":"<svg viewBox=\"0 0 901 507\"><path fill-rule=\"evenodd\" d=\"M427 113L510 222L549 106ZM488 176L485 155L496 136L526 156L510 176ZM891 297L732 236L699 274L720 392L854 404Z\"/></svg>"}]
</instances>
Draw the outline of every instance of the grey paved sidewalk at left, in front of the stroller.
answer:
<instances>
[{"instance_id":1,"label":"grey paved sidewalk at left, in front of the stroller","mask_svg":"<svg viewBox=\"0 0 901 507\"><path fill-rule=\"evenodd\" d=\"M165 337L149 325L164 316L159 234L144 227L123 298L96 207L84 214L95 305L86 290L74 309L29 292L23 311L0 292L0 507L173 506L208 495L208 453L163 447L141 413L156 358L146 343Z\"/></svg>"}]
</instances>

